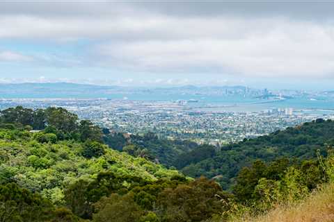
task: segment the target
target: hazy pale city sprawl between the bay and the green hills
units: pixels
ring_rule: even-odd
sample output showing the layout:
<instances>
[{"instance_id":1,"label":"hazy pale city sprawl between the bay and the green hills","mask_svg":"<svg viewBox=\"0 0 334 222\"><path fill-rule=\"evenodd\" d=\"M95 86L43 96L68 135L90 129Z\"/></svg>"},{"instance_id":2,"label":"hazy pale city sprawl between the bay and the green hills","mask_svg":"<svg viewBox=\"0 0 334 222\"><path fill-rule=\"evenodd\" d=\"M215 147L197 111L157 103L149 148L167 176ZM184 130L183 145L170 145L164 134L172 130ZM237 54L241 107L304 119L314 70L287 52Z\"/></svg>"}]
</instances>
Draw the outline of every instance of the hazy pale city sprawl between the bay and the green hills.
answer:
<instances>
[{"instance_id":1,"label":"hazy pale city sprawl between the bay and the green hills","mask_svg":"<svg viewBox=\"0 0 334 222\"><path fill-rule=\"evenodd\" d=\"M111 132L145 134L161 138L189 139L198 143L228 144L244 138L267 135L319 117L292 108L271 108L261 112L228 112L194 106L193 101L129 101L109 99L3 99L0 108L24 105L29 108L58 106L90 119Z\"/></svg>"}]
</instances>

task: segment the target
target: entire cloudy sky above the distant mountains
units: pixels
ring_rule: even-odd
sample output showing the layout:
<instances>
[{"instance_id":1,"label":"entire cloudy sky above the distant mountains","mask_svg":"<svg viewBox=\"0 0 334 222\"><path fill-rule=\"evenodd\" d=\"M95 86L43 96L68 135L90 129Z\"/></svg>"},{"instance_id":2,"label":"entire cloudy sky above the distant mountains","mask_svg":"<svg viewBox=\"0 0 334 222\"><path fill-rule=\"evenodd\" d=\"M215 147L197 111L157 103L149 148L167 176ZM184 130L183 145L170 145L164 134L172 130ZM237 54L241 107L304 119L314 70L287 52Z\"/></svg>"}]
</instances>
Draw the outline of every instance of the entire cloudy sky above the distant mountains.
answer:
<instances>
[{"instance_id":1,"label":"entire cloudy sky above the distant mountains","mask_svg":"<svg viewBox=\"0 0 334 222\"><path fill-rule=\"evenodd\" d=\"M0 83L332 89L334 1L1 1Z\"/></svg>"}]
</instances>

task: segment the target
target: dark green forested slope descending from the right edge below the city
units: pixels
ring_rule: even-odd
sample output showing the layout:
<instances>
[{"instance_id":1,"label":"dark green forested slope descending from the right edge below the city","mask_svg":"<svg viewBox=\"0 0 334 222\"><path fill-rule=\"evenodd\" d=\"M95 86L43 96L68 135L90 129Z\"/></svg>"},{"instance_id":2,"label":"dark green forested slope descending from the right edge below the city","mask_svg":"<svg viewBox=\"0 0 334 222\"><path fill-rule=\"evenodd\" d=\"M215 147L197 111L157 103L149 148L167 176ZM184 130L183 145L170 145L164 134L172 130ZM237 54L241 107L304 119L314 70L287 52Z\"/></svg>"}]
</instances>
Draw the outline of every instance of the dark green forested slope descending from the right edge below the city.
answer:
<instances>
[{"instance_id":1,"label":"dark green forested slope descending from the right edge below the city","mask_svg":"<svg viewBox=\"0 0 334 222\"><path fill-rule=\"evenodd\" d=\"M182 172L191 177L201 175L217 178L224 189L231 189L237 173L251 162L271 162L281 157L312 160L317 150L326 156L328 145L334 144L334 122L317 119L295 128L277 131L256 139L221 147L216 155L196 164L189 164Z\"/></svg>"}]
</instances>

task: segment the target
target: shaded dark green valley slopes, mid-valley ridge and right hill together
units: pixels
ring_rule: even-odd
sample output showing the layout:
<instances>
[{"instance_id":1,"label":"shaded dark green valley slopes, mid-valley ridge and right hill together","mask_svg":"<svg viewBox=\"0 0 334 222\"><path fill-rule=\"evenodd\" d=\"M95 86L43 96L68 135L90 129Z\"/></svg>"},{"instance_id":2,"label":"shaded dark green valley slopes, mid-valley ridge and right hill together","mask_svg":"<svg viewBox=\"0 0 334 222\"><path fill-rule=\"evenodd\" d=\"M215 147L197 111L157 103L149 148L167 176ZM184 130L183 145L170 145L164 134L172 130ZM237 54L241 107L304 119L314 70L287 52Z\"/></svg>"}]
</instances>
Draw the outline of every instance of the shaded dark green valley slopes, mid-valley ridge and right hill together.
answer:
<instances>
[{"instance_id":1,"label":"shaded dark green valley slopes, mid-valley ridge and right hill together","mask_svg":"<svg viewBox=\"0 0 334 222\"><path fill-rule=\"evenodd\" d=\"M334 144L334 121L317 119L302 126L221 147L159 139L153 133L127 138L116 133L104 138L107 144L118 147L120 151L148 157L166 167L176 167L193 178L215 178L223 189L232 189L237 173L255 160L271 162L289 157L298 162L314 159L318 149L321 155L326 156L327 146Z\"/></svg>"}]
</instances>

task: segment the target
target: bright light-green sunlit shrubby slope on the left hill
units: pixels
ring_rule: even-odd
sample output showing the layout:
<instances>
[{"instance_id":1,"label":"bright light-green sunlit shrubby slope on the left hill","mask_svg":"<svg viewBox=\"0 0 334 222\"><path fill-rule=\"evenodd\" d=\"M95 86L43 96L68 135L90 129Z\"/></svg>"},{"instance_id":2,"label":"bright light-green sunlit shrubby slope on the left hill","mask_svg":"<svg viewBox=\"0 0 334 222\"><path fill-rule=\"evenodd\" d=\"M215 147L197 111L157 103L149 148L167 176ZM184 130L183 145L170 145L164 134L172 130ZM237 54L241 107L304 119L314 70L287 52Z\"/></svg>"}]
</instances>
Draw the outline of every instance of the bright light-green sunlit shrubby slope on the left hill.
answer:
<instances>
[{"instance_id":1,"label":"bright light-green sunlit shrubby slope on the left hill","mask_svg":"<svg viewBox=\"0 0 334 222\"><path fill-rule=\"evenodd\" d=\"M132 157L95 142L38 142L39 133L0 130L0 184L16 182L20 187L38 191L53 202L63 198L63 187L98 173L113 171L120 176L139 176L153 181L179 175L141 157ZM103 154L86 157L88 148Z\"/></svg>"}]
</instances>

